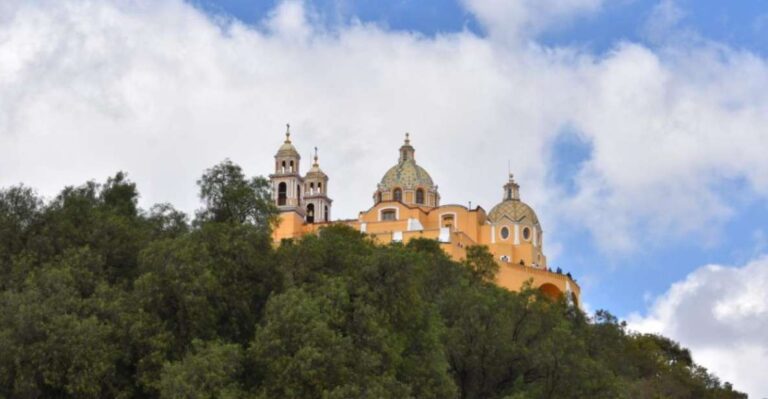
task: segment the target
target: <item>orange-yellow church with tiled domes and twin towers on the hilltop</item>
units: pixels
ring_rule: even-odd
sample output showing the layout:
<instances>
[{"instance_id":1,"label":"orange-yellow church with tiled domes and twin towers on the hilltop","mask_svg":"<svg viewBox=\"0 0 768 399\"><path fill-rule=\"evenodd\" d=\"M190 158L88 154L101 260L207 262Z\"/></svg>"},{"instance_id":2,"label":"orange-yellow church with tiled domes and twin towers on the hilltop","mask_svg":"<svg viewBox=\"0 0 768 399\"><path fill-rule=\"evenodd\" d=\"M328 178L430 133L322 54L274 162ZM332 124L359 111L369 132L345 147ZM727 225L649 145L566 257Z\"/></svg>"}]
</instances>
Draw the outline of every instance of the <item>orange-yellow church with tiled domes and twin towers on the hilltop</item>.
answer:
<instances>
[{"instance_id":1,"label":"orange-yellow church with tiled domes and twin towers on the hilltop","mask_svg":"<svg viewBox=\"0 0 768 399\"><path fill-rule=\"evenodd\" d=\"M520 199L520 186L510 174L501 202L486 212L480 206L441 204L438 186L416 163L415 149L406 133L397 163L384 173L373 192L373 206L357 219L332 221L333 200L328 196L328 175L315 151L312 167L301 174L301 156L291 142L290 129L275 154L275 172L269 176L273 200L280 210L274 230L276 243L316 233L330 223L343 223L387 244L413 238L437 240L454 260L466 248L485 245L499 263L496 284L519 290L528 280L553 298L579 304L580 288L570 275L553 272L544 255L544 231L536 212Z\"/></svg>"}]
</instances>

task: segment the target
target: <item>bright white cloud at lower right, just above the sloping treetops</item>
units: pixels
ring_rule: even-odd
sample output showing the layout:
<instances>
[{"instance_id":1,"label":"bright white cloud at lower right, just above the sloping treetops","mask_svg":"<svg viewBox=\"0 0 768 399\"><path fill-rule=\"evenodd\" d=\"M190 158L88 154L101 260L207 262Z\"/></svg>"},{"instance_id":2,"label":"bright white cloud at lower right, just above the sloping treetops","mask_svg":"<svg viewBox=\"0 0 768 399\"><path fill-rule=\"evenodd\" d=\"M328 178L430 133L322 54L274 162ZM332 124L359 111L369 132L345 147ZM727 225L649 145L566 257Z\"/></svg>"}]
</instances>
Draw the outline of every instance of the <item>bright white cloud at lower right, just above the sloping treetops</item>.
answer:
<instances>
[{"instance_id":1,"label":"bright white cloud at lower right, just above the sloping treetops","mask_svg":"<svg viewBox=\"0 0 768 399\"><path fill-rule=\"evenodd\" d=\"M679 341L694 360L750 397L768 396L768 256L741 267L704 266L629 326Z\"/></svg>"}]
</instances>

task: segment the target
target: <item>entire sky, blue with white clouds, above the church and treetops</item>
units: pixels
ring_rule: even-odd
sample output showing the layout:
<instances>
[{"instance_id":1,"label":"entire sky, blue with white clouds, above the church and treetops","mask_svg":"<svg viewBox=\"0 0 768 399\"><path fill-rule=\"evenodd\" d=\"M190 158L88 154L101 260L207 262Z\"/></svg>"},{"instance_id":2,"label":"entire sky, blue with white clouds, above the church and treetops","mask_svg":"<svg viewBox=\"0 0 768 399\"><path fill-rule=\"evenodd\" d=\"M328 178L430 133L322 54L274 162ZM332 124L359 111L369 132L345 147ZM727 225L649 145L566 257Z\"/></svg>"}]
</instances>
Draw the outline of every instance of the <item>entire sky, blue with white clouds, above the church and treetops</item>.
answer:
<instances>
[{"instance_id":1,"label":"entire sky, blue with white clouds, above the church and treetops","mask_svg":"<svg viewBox=\"0 0 768 399\"><path fill-rule=\"evenodd\" d=\"M587 310L768 397L768 2L5 0L0 187L200 206L291 124L355 218L405 132L443 203L508 168Z\"/></svg>"}]
</instances>

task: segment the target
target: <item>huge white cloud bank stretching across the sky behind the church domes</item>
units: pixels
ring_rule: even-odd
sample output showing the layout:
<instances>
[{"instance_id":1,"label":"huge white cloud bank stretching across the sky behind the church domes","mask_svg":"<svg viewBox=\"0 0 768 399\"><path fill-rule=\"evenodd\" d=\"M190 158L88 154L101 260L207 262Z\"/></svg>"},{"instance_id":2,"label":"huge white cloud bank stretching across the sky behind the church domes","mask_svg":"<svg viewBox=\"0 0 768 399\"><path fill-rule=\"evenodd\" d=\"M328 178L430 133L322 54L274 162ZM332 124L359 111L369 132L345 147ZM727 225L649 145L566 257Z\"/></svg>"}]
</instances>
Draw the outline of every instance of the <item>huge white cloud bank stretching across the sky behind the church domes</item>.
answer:
<instances>
[{"instance_id":1,"label":"huge white cloud bank stretching across the sky behind the church domes","mask_svg":"<svg viewBox=\"0 0 768 399\"><path fill-rule=\"evenodd\" d=\"M601 3L467 4L545 26ZM511 160L552 248L566 222L606 251L716 240L734 212L720 184L768 196L768 67L748 52L624 43L594 56L317 19L298 1L258 28L179 0L3 2L0 186L53 195L124 169L144 205L192 210L196 178L225 157L270 173L290 122L305 161L320 148L345 218L370 206L405 131L445 202L489 210ZM549 180L564 126L593 148L573 196Z\"/></svg>"}]
</instances>

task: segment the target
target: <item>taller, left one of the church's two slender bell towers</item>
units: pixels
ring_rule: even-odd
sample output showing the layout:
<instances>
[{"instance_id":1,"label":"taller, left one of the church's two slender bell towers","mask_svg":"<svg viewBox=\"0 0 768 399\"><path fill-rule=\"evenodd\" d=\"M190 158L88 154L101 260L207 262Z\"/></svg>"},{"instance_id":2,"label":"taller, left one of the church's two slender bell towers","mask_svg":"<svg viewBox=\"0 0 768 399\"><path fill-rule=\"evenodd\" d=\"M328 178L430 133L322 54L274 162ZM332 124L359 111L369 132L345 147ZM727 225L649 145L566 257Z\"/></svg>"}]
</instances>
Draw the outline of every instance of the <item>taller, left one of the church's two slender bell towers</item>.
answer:
<instances>
[{"instance_id":1,"label":"taller, left one of the church's two slender bell towers","mask_svg":"<svg viewBox=\"0 0 768 399\"><path fill-rule=\"evenodd\" d=\"M291 143L291 125L286 125L285 141L275 154L275 173L269 175L272 199L280 212L304 215L304 179L299 172L301 156Z\"/></svg>"}]
</instances>

